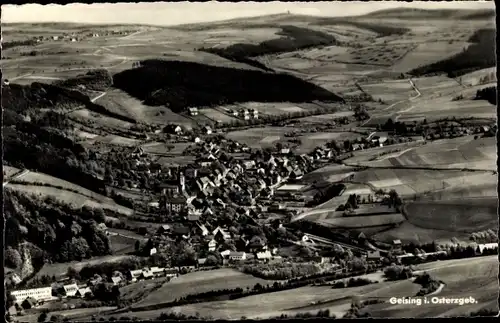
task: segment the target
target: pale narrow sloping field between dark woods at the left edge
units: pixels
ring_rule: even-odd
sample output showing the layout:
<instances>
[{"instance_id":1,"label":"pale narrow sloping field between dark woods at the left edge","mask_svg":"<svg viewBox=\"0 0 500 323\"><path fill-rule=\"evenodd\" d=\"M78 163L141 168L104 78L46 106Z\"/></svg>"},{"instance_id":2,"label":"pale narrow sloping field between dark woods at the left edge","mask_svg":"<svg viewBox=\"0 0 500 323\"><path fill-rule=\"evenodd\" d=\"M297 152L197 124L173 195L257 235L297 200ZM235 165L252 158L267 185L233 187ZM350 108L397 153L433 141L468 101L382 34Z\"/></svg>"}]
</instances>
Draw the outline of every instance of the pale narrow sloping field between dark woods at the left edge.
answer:
<instances>
[{"instance_id":1,"label":"pale narrow sloping field between dark woods at the left edge","mask_svg":"<svg viewBox=\"0 0 500 323\"><path fill-rule=\"evenodd\" d=\"M53 196L56 199L62 200L68 204L76 205L76 207L89 205L102 207L104 209L110 209L124 215L132 215L134 213L133 210L116 204L112 199L108 197L46 174L29 172L17 179L17 181L26 184L8 184L7 187L33 194ZM63 189L49 186L30 185L32 183L50 184L53 186L60 186Z\"/></svg>"}]
</instances>

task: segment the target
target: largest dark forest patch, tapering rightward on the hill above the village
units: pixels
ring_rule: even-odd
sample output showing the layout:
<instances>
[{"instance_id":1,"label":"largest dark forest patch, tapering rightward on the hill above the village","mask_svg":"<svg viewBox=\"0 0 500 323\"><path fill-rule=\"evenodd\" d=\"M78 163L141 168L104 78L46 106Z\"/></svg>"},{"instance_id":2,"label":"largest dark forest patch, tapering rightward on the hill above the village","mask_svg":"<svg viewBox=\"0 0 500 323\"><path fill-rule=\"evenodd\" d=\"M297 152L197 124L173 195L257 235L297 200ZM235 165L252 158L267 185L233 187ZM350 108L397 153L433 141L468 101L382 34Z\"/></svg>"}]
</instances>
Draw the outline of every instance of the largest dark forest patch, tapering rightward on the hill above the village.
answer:
<instances>
[{"instance_id":1,"label":"largest dark forest patch, tapering rightward on the hill above the village","mask_svg":"<svg viewBox=\"0 0 500 323\"><path fill-rule=\"evenodd\" d=\"M165 105L174 112L250 101L343 101L290 75L181 61L142 61L140 67L115 74L113 83L148 105Z\"/></svg>"}]
</instances>

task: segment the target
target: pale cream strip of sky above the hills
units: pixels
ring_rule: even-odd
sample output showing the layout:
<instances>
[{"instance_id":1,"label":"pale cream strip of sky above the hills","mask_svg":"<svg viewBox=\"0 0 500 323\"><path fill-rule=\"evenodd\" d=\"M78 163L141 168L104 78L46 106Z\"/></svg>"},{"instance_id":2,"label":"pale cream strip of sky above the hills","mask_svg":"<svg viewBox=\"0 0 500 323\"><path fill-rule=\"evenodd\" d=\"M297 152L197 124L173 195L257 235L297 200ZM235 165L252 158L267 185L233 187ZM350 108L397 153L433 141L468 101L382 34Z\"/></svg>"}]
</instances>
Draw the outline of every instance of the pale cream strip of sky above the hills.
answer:
<instances>
[{"instance_id":1,"label":"pale cream strip of sky above the hills","mask_svg":"<svg viewBox=\"0 0 500 323\"><path fill-rule=\"evenodd\" d=\"M285 13L312 16L353 16L371 11L411 7L422 9L495 8L493 1L411 3L397 1L325 2L143 2L69 5L3 5L2 22L75 22L95 24L179 25Z\"/></svg>"}]
</instances>

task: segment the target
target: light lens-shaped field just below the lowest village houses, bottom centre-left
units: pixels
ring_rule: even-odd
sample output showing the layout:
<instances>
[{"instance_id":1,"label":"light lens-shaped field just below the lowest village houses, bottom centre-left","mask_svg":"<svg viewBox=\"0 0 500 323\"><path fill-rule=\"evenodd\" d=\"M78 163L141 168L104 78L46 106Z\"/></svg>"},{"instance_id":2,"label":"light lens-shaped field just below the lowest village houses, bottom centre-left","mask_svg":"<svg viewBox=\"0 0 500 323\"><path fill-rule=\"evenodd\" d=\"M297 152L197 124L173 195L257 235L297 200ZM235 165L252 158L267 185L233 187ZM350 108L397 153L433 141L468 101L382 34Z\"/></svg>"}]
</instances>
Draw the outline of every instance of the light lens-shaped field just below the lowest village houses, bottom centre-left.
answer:
<instances>
[{"instance_id":1,"label":"light lens-shaped field just below the lowest village houses, bottom centre-left","mask_svg":"<svg viewBox=\"0 0 500 323\"><path fill-rule=\"evenodd\" d=\"M149 294L144 300L133 305L134 308L172 302L188 294L204 293L212 290L253 288L257 283L267 285L273 281L243 274L233 269L199 271L182 275Z\"/></svg>"}]
</instances>

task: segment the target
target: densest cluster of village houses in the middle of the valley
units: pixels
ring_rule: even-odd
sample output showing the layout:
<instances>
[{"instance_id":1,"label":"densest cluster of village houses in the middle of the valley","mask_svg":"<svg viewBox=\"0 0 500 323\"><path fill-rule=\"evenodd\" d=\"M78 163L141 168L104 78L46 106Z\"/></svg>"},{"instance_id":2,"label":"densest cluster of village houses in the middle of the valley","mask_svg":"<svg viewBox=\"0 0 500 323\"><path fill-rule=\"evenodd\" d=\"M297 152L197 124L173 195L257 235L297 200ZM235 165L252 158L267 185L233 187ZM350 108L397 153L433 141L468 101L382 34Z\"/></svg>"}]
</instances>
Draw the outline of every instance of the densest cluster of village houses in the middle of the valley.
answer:
<instances>
[{"instance_id":1,"label":"densest cluster of village houses in the middle of the valley","mask_svg":"<svg viewBox=\"0 0 500 323\"><path fill-rule=\"evenodd\" d=\"M294 156L289 149L268 156L247 154L228 159L214 142L197 145L200 149L196 163L179 169L179 175L163 185L161 204L167 213L186 211L188 216L199 219L210 212L207 209L213 204L222 208L228 203L259 206L259 202L270 201L282 184L301 179L312 168L310 156Z\"/></svg>"}]
</instances>

